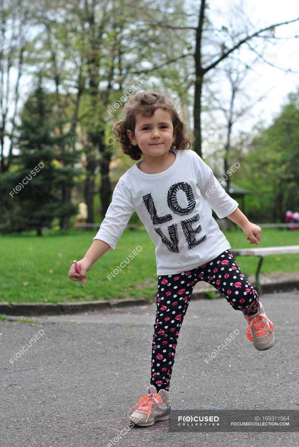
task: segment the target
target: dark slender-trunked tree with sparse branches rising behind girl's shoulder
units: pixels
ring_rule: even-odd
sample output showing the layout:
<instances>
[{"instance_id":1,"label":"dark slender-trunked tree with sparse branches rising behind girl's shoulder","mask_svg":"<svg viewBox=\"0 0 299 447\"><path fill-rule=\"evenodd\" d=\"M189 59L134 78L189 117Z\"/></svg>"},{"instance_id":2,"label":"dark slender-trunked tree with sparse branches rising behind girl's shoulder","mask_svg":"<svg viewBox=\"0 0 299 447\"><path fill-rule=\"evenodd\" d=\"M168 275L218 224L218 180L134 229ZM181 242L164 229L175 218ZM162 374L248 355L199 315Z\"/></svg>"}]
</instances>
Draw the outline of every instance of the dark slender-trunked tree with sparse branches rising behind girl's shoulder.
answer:
<instances>
[{"instance_id":1,"label":"dark slender-trunked tree with sparse branches rising behind girl's shoulder","mask_svg":"<svg viewBox=\"0 0 299 447\"><path fill-rule=\"evenodd\" d=\"M237 8L237 6L236 6ZM263 38L264 41L267 39L275 39L274 31L278 26L286 25L295 21L299 21L299 18L295 18L294 20L285 21L281 23L276 23L274 25L267 26L265 28L262 28L261 30L258 30L256 32L250 33L248 28L246 28L244 31L238 28L236 31L234 30L234 26L232 25L230 27L230 30L226 26L222 26L220 30L216 29L212 26L212 22L210 21L207 10L209 9L209 4L206 2L206 0L200 1L200 7L199 7L199 14L198 14L198 25L197 26L189 26L188 22L188 14L184 15L185 23L184 25L177 25L173 23L169 23L167 20L167 17L163 20L157 20L156 22L150 20L147 23L147 26L151 26L156 28L160 28L163 33L165 33L165 30L174 30L176 32L176 38L181 38L181 35L186 36L186 33L188 31L195 32L195 38L194 44L193 42L189 42L189 45L186 45L186 49L188 50L188 53L185 52L184 54L179 54L177 57L174 57L173 60L167 60L166 62L162 62L160 64L155 64L152 68L148 68L146 70L141 69L135 72L132 72L132 74L149 74L153 72L159 72L159 70L164 67L165 65L169 66L172 62L178 60L178 59L185 59L186 57L189 57L190 55L193 56L194 59L194 111L193 111L193 119L194 119L194 151L197 152L197 154L202 157L202 96L203 96L203 86L206 81L207 75L215 68L217 67L224 59L226 59L229 55L231 55L234 51L239 49L243 45L247 45L250 50L252 50L254 53L258 55L259 58L261 58L264 62L268 63L272 67L276 67L272 63L269 62L269 60L266 60L262 57L260 53L258 53L255 48L252 48L249 44L250 41L253 41L253 38ZM151 14L152 17L154 16L154 10L151 9L148 11L148 14ZM191 14L192 16L194 14ZM165 12L165 16L167 16L167 11ZM232 17L232 14L230 15ZM235 19L235 17L234 17ZM244 21L244 18L242 19L243 23L250 23L249 19L247 18L246 21ZM247 25L246 25L247 26ZM181 31L181 32L180 32ZM268 35L264 34L266 32L269 32ZM146 30L144 30L146 32ZM243 38L240 38L240 34L245 34ZM216 37L215 37L216 36ZM297 38L298 36L292 36L292 38ZM225 42L226 43L225 43ZM215 47L218 47L218 53L215 56L211 55L211 52L209 50L208 53L204 54L205 46L211 45L211 42L215 42ZM175 41L172 42L172 45L175 44ZM190 49L194 47L194 51L190 53ZM206 60L204 60L206 59ZM213 60L214 59L214 60ZM189 61L189 59L187 59ZM211 62L212 60L212 62ZM291 69L285 70L280 67L276 67L281 69L285 72L291 72ZM170 68L171 69L171 65Z\"/></svg>"}]
</instances>

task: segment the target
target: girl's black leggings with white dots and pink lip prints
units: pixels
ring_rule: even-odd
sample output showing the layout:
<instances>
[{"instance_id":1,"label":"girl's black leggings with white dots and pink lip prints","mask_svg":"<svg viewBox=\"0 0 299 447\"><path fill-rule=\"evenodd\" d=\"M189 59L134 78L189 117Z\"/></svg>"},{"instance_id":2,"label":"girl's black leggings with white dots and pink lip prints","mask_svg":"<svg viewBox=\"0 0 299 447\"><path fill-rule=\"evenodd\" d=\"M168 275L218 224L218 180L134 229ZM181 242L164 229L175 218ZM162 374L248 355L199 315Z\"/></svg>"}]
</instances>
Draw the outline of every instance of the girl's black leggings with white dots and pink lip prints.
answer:
<instances>
[{"instance_id":1,"label":"girl's black leggings with white dots and pink lip prints","mask_svg":"<svg viewBox=\"0 0 299 447\"><path fill-rule=\"evenodd\" d=\"M260 307L257 291L241 273L230 250L195 269L159 276L151 367L151 384L157 391L169 391L177 338L197 281L214 286L233 309L246 315L256 313Z\"/></svg>"}]
</instances>

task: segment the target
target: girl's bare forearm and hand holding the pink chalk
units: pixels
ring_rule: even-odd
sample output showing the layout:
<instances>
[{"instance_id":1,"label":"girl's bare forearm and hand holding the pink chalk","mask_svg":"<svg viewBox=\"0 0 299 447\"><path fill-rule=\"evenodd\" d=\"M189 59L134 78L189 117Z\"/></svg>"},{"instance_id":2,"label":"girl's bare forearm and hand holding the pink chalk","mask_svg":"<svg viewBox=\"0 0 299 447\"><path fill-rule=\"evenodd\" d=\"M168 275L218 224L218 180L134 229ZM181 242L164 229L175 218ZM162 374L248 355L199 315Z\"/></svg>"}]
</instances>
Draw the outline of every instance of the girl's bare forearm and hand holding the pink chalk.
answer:
<instances>
[{"instance_id":1,"label":"girl's bare forearm and hand holding the pink chalk","mask_svg":"<svg viewBox=\"0 0 299 447\"><path fill-rule=\"evenodd\" d=\"M80 267L80 274L77 273L75 264L72 264L68 277L72 279L72 281L81 281L86 278L86 272L90 269L90 267L110 248L106 242L101 239L95 239L86 252L85 256L81 261L78 261L78 265Z\"/></svg>"}]
</instances>

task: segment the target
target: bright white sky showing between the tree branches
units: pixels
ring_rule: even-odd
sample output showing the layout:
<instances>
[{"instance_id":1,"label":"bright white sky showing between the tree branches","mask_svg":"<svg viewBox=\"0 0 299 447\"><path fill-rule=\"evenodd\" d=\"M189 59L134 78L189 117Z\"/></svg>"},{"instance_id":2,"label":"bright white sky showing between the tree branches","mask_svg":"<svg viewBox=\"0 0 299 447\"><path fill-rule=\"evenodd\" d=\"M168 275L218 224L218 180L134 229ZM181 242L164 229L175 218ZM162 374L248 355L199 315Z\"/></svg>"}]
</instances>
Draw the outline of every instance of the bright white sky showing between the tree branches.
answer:
<instances>
[{"instance_id":1,"label":"bright white sky showing between the tree branches","mask_svg":"<svg viewBox=\"0 0 299 447\"><path fill-rule=\"evenodd\" d=\"M294 20L299 17L299 8L296 6L296 2L291 0L284 1L261 1L261 0L241 0L241 1L223 1L213 0L207 1L209 4L208 17L212 21L213 25L220 29L222 26L227 28L233 27L233 30L242 31L244 26L248 27L249 34L253 34L257 30L264 27L281 23L284 21ZM198 11L198 0L191 0L191 11ZM240 10L244 11L242 17ZM249 20L248 20L249 19ZM251 23L250 23L251 22ZM252 26L252 25L253 26ZM277 67L299 72L298 63L298 47L299 39L292 36L299 35L299 21L288 25L282 25L276 28L275 36L284 37L286 39L272 40L271 42L265 42L261 38L253 38L250 41L250 45L256 48L258 52L264 52L263 57L269 60L270 63ZM242 37L244 34L242 34ZM256 47L257 45L257 47ZM207 48L206 48L207 49ZM213 54L216 53L215 48L211 48ZM244 114L233 127L232 135L237 137L240 131L250 132L254 125L262 121L266 125L270 125L275 115L279 114L282 104L287 101L287 94L297 91L299 87L299 73L291 74L285 73L282 70L268 65L261 59L258 60L257 65L251 66L252 61L256 55L248 50L246 45L242 46L239 55L232 53L232 55L238 56L243 62L247 62L252 68L252 71L246 76L246 81L242 83L244 92L248 95L249 102L253 103L250 112ZM224 62L224 61L223 61ZM221 68L219 64L219 69ZM244 67L242 65L242 67ZM212 72L209 76L213 78ZM211 84L211 89L217 90L222 95L222 98L230 97L227 80L221 74L219 70L214 71L215 84ZM11 81L15 80L16 76L13 76ZM25 95L28 92L28 88L31 86L31 80L29 76L21 78L21 94ZM257 99L262 95L266 97L257 102ZM242 105L244 106L244 96L236 97L236 110ZM222 100L223 105L228 107L228 102L225 103ZM11 110L12 113L12 110ZM9 114L11 116L11 113ZM191 112L192 113L192 112ZM225 124L225 119L222 112L215 112L216 122ZM4 154L7 155L8 141L5 142Z\"/></svg>"}]
</instances>

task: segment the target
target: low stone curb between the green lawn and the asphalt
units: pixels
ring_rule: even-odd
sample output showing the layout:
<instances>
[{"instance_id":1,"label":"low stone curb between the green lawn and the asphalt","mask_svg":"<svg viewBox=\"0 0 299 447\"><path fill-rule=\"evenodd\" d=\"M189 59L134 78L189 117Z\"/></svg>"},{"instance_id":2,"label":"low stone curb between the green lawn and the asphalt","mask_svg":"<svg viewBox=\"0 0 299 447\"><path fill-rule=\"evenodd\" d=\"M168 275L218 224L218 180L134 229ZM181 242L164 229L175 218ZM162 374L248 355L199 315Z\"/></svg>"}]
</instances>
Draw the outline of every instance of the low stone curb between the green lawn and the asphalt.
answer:
<instances>
[{"instance_id":1,"label":"low stone curb between the green lawn and the asphalt","mask_svg":"<svg viewBox=\"0 0 299 447\"><path fill-rule=\"evenodd\" d=\"M256 284L251 283L255 288ZM262 294L284 293L292 290L299 290L299 281L282 281L272 283L261 283ZM211 290L215 290L211 286ZM215 290L215 298L206 295L206 291L194 291L192 299L219 299L223 298L222 293ZM64 313L80 313L87 311L99 311L107 308L118 308L125 306L139 306L156 303L156 297L147 299L111 299L101 301L76 301L72 303L8 303L0 302L0 314L15 316L38 316L38 315L62 315Z\"/></svg>"}]
</instances>

